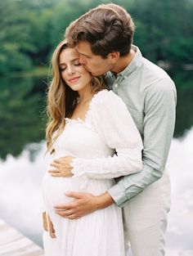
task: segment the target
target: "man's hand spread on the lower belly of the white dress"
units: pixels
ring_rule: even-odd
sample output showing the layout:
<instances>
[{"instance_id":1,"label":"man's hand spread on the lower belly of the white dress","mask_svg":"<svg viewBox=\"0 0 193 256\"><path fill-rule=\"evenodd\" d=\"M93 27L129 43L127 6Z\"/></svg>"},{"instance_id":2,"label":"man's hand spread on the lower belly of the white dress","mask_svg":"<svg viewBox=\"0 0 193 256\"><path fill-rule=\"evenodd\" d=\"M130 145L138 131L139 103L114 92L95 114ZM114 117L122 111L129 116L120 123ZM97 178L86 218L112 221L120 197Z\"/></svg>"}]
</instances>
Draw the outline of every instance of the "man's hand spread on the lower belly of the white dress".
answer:
<instances>
[{"instance_id":1,"label":"man's hand spread on the lower belly of the white dress","mask_svg":"<svg viewBox=\"0 0 193 256\"><path fill-rule=\"evenodd\" d=\"M56 213L65 218L75 219L83 217L97 209L104 209L114 203L108 192L102 195L92 195L83 192L66 192L65 195L74 197L74 201L68 204L57 204Z\"/></svg>"}]
</instances>

